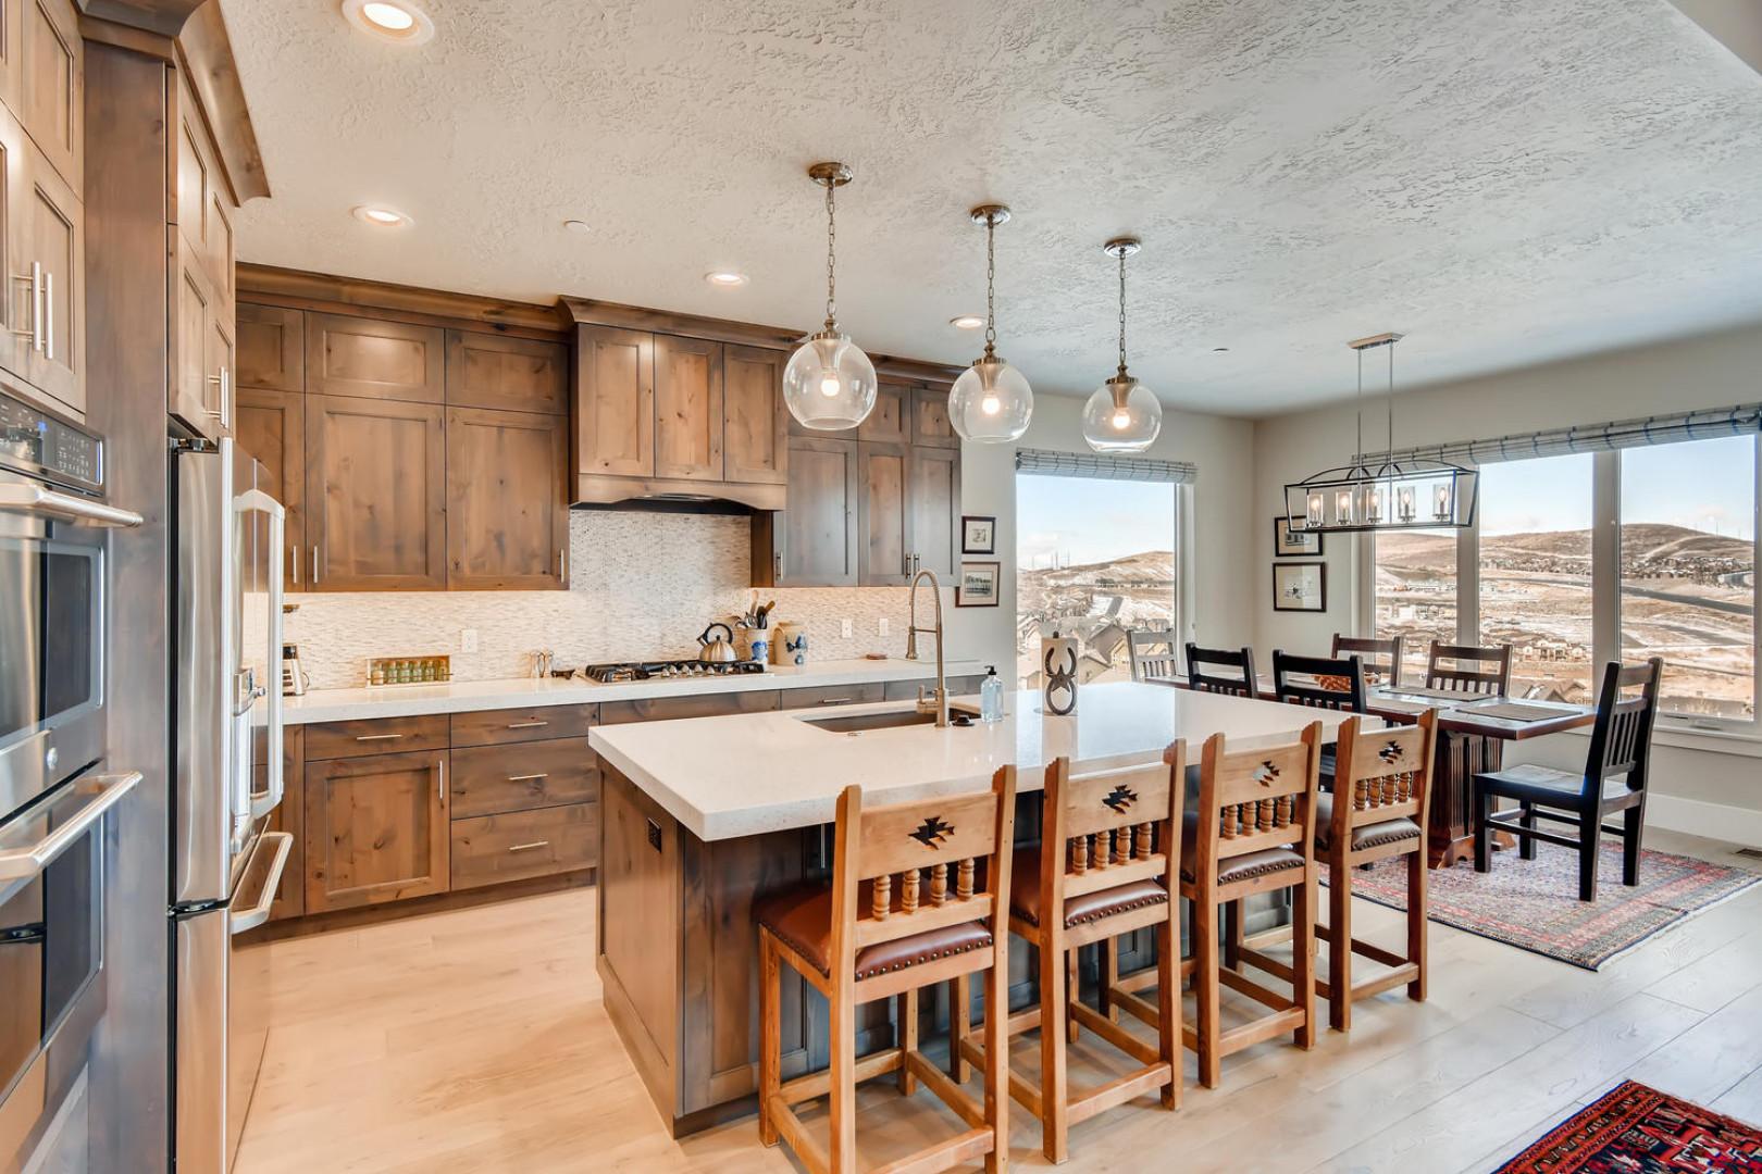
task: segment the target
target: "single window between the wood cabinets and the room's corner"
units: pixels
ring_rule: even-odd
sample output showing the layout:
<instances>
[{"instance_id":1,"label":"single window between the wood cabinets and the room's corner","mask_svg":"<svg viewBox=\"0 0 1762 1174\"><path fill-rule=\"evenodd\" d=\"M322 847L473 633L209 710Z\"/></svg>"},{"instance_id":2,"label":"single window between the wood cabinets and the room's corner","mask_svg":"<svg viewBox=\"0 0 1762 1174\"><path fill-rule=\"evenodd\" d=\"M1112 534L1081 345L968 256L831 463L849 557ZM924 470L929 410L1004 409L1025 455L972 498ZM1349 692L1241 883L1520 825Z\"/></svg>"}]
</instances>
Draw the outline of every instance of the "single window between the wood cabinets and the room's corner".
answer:
<instances>
[{"instance_id":1,"label":"single window between the wood cabinets and the room's corner","mask_svg":"<svg viewBox=\"0 0 1762 1174\"><path fill-rule=\"evenodd\" d=\"M1128 681L1126 634L1175 627L1175 493L1166 481L1017 475L1020 688L1040 688L1040 637L1054 628L1082 641L1078 681Z\"/></svg>"}]
</instances>

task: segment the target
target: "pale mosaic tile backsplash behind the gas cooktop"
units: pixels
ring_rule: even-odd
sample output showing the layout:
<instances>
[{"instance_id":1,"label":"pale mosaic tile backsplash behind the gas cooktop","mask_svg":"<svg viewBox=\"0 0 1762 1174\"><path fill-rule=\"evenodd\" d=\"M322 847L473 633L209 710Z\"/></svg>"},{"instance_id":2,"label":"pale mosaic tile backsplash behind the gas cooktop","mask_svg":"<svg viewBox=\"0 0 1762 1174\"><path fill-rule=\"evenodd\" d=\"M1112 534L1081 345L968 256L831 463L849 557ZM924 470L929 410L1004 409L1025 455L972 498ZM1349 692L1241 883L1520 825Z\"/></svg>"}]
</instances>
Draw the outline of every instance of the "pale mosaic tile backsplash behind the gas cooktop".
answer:
<instances>
[{"instance_id":1,"label":"pale mosaic tile backsplash behind the gas cooktop","mask_svg":"<svg viewBox=\"0 0 1762 1174\"><path fill-rule=\"evenodd\" d=\"M287 616L287 639L300 644L312 688L365 685L370 657L448 653L458 681L527 676L539 648L555 651L559 667L689 657L707 623L745 611L749 565L745 517L574 510L567 591L292 595L300 609ZM812 660L906 649L906 588L763 590L761 598L777 600L774 621L807 627ZM842 620L853 621L851 639ZM478 632L476 653L460 651L465 628Z\"/></svg>"}]
</instances>

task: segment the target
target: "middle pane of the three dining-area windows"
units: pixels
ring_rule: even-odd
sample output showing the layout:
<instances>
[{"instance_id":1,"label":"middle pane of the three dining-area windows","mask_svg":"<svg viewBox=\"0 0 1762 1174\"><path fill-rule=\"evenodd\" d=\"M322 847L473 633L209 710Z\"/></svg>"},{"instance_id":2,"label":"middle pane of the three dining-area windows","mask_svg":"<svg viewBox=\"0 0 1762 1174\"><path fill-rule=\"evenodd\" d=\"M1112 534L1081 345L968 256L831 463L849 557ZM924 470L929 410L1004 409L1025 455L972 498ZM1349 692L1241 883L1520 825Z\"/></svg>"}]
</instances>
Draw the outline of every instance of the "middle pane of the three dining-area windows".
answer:
<instances>
[{"instance_id":1,"label":"middle pane of the three dining-area windows","mask_svg":"<svg viewBox=\"0 0 1762 1174\"><path fill-rule=\"evenodd\" d=\"M1593 456L1480 470L1480 644L1512 646L1512 697L1596 701Z\"/></svg>"}]
</instances>

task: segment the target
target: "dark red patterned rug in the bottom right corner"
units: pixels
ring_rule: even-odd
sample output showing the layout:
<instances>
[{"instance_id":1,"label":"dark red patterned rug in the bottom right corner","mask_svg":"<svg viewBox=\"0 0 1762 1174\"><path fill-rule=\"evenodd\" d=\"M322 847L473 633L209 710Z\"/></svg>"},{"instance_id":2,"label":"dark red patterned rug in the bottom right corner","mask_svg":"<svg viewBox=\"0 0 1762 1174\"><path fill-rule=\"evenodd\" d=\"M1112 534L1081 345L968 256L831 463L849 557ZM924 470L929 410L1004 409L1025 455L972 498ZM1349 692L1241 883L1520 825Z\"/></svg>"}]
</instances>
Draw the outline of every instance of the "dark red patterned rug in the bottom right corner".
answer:
<instances>
[{"instance_id":1,"label":"dark red patterned rug in the bottom right corner","mask_svg":"<svg viewBox=\"0 0 1762 1174\"><path fill-rule=\"evenodd\" d=\"M1496 1174L1762 1172L1762 1132L1700 1105L1623 1081L1572 1114Z\"/></svg>"}]
</instances>

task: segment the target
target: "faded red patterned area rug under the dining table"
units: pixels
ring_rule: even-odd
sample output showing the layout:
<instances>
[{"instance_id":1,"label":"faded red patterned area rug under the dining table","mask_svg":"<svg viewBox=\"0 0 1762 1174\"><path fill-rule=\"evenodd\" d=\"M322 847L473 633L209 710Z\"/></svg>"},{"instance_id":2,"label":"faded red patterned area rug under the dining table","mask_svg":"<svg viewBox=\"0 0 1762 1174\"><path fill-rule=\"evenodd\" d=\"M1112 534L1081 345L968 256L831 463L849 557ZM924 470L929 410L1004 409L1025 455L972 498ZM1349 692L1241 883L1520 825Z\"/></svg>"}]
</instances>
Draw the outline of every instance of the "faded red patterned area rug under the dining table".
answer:
<instances>
[{"instance_id":1,"label":"faded red patterned area rug under the dining table","mask_svg":"<svg viewBox=\"0 0 1762 1174\"><path fill-rule=\"evenodd\" d=\"M1623 950L1709 905L1762 882L1762 875L1670 852L1640 852L1640 884L1621 884L1621 845L1609 841L1598 861L1596 899L1579 899L1579 855L1552 843L1536 845L1536 859L1515 848L1492 857L1491 873L1473 862L1431 873L1431 919L1596 970ZM1327 869L1323 869L1323 884ZM1403 859L1357 871L1357 896L1404 910L1408 871Z\"/></svg>"}]
</instances>

